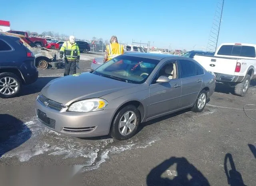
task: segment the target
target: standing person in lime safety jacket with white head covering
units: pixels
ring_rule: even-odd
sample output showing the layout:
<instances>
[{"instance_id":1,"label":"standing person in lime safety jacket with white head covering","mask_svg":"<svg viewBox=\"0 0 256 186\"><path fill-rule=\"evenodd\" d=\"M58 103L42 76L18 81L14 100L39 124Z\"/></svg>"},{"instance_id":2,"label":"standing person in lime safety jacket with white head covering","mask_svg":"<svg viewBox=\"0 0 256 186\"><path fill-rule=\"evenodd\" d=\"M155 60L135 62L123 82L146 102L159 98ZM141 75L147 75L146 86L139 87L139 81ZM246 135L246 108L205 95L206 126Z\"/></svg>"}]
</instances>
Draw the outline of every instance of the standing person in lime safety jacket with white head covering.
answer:
<instances>
[{"instance_id":1,"label":"standing person in lime safety jacket with white head covering","mask_svg":"<svg viewBox=\"0 0 256 186\"><path fill-rule=\"evenodd\" d=\"M65 60L64 76L75 74L76 63L78 63L80 59L80 51L75 42L74 36L70 36L69 40L63 43L62 47L60 48L60 58L63 57L63 54Z\"/></svg>"}]
</instances>

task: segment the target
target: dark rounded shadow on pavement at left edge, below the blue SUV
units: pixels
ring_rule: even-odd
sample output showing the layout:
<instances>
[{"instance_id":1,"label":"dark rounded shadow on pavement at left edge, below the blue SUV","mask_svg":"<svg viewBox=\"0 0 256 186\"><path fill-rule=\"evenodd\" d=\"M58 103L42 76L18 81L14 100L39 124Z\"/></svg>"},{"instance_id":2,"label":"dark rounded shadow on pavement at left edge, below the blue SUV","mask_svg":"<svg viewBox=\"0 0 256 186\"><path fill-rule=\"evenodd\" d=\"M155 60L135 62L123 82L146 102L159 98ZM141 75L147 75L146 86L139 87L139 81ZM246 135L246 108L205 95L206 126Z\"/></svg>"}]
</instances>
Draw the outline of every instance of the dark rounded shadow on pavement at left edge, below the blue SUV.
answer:
<instances>
[{"instance_id":1,"label":"dark rounded shadow on pavement at left edge, below the blue SUV","mask_svg":"<svg viewBox=\"0 0 256 186\"><path fill-rule=\"evenodd\" d=\"M32 132L22 121L8 114L0 114L0 158L26 142L31 135Z\"/></svg>"}]
</instances>

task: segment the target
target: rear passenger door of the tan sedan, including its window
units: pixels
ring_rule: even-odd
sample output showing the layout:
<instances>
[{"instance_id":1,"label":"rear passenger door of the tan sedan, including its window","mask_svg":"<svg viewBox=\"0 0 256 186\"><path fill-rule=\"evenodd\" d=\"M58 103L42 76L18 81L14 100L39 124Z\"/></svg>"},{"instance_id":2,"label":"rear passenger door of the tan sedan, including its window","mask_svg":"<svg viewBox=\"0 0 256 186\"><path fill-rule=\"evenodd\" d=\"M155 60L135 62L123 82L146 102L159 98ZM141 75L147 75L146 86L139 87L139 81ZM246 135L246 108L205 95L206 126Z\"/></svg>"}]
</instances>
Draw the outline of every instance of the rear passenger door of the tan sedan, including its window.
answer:
<instances>
[{"instance_id":1,"label":"rear passenger door of the tan sedan, including its window","mask_svg":"<svg viewBox=\"0 0 256 186\"><path fill-rule=\"evenodd\" d=\"M181 107L193 105L202 87L204 71L197 70L196 63L190 60L179 60L182 77ZM199 67L199 66L198 66Z\"/></svg>"}]
</instances>

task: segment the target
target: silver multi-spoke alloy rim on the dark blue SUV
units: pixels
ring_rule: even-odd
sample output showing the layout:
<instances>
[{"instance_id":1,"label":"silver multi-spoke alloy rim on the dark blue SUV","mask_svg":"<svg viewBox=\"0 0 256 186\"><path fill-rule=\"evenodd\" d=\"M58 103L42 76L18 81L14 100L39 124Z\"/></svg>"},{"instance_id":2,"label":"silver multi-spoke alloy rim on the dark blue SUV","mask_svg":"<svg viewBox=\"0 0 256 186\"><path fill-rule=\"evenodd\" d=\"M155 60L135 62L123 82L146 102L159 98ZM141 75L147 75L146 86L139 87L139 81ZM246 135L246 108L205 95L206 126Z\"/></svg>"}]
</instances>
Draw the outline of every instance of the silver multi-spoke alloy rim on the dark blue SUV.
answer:
<instances>
[{"instance_id":1,"label":"silver multi-spoke alloy rim on the dark blue SUV","mask_svg":"<svg viewBox=\"0 0 256 186\"><path fill-rule=\"evenodd\" d=\"M0 93L12 95L18 91L18 82L12 77L2 77L0 79Z\"/></svg>"}]
</instances>

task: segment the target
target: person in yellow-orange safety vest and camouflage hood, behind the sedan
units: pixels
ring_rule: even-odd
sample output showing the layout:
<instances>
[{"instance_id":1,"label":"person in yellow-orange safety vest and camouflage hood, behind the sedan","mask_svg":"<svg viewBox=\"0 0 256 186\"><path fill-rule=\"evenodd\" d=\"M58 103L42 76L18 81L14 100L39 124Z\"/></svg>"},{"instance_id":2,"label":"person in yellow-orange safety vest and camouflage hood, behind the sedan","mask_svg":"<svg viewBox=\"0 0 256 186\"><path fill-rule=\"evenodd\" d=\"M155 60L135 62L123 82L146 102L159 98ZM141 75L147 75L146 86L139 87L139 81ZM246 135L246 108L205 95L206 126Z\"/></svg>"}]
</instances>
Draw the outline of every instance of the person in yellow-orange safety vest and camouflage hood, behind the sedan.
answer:
<instances>
[{"instance_id":1,"label":"person in yellow-orange safety vest and camouflage hood, behind the sedan","mask_svg":"<svg viewBox=\"0 0 256 186\"><path fill-rule=\"evenodd\" d=\"M116 36L112 36L110 44L106 46L103 62L105 63L106 61L109 61L121 54L124 54L124 46L118 43Z\"/></svg>"}]
</instances>

